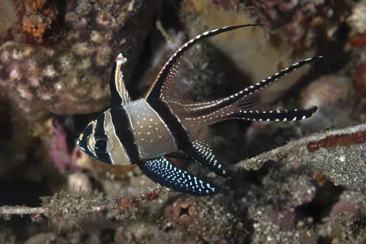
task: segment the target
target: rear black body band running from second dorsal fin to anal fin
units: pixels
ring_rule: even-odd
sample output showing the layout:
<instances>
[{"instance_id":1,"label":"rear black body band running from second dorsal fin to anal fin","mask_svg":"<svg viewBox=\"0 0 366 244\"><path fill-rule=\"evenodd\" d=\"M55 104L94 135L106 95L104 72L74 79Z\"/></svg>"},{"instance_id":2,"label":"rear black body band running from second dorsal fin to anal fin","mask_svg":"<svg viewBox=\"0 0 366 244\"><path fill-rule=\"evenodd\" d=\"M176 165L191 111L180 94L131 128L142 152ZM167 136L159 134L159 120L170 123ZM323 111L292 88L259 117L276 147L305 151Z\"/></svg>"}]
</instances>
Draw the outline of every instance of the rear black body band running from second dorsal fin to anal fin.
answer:
<instances>
[{"instance_id":1,"label":"rear black body band running from second dorsal fin to anal fin","mask_svg":"<svg viewBox=\"0 0 366 244\"><path fill-rule=\"evenodd\" d=\"M164 102L151 101L147 103L159 114L159 117L163 120L172 134L176 147L182 150L189 143L188 133L183 124L175 115L170 113L168 105Z\"/></svg>"}]
</instances>

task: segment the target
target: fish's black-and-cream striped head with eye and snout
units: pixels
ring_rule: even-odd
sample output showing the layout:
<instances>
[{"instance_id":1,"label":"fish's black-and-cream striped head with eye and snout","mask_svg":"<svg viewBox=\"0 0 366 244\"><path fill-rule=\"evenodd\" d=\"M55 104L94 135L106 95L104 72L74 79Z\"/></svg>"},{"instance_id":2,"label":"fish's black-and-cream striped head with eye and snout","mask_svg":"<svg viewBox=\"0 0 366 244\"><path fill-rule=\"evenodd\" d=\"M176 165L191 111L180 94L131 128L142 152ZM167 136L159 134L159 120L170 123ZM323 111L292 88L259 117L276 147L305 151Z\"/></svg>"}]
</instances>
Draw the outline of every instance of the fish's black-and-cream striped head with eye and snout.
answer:
<instances>
[{"instance_id":1,"label":"fish's black-and-cream striped head with eye and snout","mask_svg":"<svg viewBox=\"0 0 366 244\"><path fill-rule=\"evenodd\" d=\"M92 158L103 163L114 164L112 152L115 143L113 136L106 130L106 112L100 114L96 120L89 122L81 131L76 144Z\"/></svg>"}]
</instances>

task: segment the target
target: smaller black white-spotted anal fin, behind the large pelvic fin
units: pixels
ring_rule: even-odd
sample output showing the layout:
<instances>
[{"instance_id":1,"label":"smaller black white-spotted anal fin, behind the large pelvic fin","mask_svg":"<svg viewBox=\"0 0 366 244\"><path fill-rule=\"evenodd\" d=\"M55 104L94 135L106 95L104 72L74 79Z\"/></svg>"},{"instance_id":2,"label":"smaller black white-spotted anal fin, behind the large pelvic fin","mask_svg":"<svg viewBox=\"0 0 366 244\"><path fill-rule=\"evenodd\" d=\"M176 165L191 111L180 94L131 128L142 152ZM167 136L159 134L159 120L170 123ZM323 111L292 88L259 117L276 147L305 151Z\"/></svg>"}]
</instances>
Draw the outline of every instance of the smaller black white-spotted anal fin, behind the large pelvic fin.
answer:
<instances>
[{"instance_id":1,"label":"smaller black white-spotted anal fin, behind the large pelvic fin","mask_svg":"<svg viewBox=\"0 0 366 244\"><path fill-rule=\"evenodd\" d=\"M197 163L214 172L216 175L222 176L226 179L231 177L230 171L225 169L217 160L212 152L212 148L207 143L195 140L184 148L183 152L193 158Z\"/></svg>"}]
</instances>

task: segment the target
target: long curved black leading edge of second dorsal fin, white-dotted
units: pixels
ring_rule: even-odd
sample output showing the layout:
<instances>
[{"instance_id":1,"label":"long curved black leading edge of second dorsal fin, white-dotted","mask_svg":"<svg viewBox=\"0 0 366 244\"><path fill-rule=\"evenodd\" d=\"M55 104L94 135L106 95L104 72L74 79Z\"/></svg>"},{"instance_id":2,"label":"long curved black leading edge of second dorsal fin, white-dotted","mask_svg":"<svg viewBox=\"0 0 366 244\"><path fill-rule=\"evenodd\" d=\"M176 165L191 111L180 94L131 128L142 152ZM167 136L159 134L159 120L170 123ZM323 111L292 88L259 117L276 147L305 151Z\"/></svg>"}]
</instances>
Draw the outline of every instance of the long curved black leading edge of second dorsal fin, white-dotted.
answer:
<instances>
[{"instance_id":1,"label":"long curved black leading edge of second dorsal fin, white-dotted","mask_svg":"<svg viewBox=\"0 0 366 244\"><path fill-rule=\"evenodd\" d=\"M203 39L218 35L220 33L224 33L226 31L235 30L238 28L248 27L248 26L263 26L262 24L245 24L245 25L236 25L236 26L226 26L223 28L210 30L203 32L202 34L198 35L197 37L191 39L190 41L185 42L171 57L170 59L164 64L163 68L159 72L157 78L155 79L154 83L150 86L149 90L147 91L144 99L147 101L154 101L160 98L162 93L163 83L166 82L169 73L172 70L174 64L180 60L180 58L187 52L193 45L195 45L198 41ZM169 87L167 84L165 87Z\"/></svg>"}]
</instances>

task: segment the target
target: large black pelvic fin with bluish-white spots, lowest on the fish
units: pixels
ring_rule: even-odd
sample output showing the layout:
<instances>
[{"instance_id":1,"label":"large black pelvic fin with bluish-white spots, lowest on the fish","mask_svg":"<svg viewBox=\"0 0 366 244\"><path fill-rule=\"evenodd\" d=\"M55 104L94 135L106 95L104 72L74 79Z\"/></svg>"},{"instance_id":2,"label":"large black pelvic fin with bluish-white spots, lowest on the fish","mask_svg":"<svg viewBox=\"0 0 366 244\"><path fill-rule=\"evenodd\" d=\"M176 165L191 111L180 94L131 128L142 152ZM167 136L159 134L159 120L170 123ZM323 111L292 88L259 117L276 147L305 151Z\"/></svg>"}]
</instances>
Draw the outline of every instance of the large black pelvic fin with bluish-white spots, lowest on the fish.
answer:
<instances>
[{"instance_id":1,"label":"large black pelvic fin with bluish-white spots, lowest on the fish","mask_svg":"<svg viewBox=\"0 0 366 244\"><path fill-rule=\"evenodd\" d=\"M153 182L193 196L216 194L218 188L197 176L178 168L165 157L158 157L137 164L141 171Z\"/></svg>"}]
</instances>

